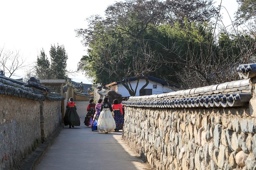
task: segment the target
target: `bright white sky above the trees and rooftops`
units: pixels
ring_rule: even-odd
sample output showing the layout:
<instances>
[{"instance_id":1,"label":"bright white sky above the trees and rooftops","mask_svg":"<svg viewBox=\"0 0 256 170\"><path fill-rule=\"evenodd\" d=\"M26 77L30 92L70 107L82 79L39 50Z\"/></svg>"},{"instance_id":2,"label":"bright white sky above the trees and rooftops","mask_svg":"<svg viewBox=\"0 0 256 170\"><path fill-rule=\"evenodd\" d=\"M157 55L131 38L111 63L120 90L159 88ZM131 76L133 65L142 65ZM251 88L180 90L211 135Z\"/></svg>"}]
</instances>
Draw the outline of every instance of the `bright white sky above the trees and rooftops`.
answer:
<instances>
[{"instance_id":1,"label":"bright white sky above the trees and rooftops","mask_svg":"<svg viewBox=\"0 0 256 170\"><path fill-rule=\"evenodd\" d=\"M19 51L26 64L33 66L42 48L49 58L51 45L64 45L68 55L67 69L75 71L87 51L74 30L86 28L85 20L91 15L104 16L104 10L116 1L119 0L1 0L0 47ZM222 0L222 6L231 15L237 9L236 0ZM222 13L228 25L225 8ZM24 77L25 72L17 71L18 77L12 78ZM92 83L82 73L69 77L75 82Z\"/></svg>"}]
</instances>

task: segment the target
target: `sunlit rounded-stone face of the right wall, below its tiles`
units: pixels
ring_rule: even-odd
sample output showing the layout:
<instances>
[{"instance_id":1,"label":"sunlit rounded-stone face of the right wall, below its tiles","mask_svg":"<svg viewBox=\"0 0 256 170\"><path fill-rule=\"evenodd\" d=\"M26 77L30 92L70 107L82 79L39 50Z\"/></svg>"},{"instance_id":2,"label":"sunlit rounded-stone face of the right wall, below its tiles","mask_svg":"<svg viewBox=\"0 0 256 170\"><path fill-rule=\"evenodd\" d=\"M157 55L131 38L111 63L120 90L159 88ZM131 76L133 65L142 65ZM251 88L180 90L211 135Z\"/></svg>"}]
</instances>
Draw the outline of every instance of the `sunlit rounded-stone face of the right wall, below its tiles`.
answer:
<instances>
[{"instance_id":1,"label":"sunlit rounded-stone face of the right wall, below its tiles","mask_svg":"<svg viewBox=\"0 0 256 170\"><path fill-rule=\"evenodd\" d=\"M253 169L256 119L248 107L126 107L124 140L156 169ZM246 169L245 168L245 169Z\"/></svg>"}]
</instances>

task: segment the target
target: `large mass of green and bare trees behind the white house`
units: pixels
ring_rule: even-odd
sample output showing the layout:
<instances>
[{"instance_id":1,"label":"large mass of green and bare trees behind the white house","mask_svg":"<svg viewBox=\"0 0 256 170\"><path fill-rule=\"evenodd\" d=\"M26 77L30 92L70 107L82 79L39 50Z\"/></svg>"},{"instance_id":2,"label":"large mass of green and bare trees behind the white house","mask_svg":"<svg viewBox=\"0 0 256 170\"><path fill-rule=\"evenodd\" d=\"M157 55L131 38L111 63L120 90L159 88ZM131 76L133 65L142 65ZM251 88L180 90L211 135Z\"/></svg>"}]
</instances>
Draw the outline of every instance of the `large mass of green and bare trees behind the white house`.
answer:
<instances>
[{"instance_id":1,"label":"large mass of green and bare trees behind the white house","mask_svg":"<svg viewBox=\"0 0 256 170\"><path fill-rule=\"evenodd\" d=\"M216 11L212 0L114 3L105 19L92 16L87 29L76 30L88 47L78 68L104 84L139 75L184 88L237 80L234 68L252 61L255 37L246 31L216 33L210 21ZM124 84L131 95L137 90Z\"/></svg>"}]
</instances>

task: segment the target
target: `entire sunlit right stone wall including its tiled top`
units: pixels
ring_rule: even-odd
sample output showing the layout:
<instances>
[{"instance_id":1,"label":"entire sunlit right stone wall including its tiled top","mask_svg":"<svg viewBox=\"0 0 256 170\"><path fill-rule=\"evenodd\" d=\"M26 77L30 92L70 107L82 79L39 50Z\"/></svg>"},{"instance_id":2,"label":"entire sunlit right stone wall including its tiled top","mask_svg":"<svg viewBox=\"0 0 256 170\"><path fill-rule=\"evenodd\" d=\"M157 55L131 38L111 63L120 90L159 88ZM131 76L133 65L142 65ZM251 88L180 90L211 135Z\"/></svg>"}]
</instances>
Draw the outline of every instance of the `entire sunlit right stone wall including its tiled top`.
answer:
<instances>
[{"instance_id":1,"label":"entire sunlit right stone wall including its tiled top","mask_svg":"<svg viewBox=\"0 0 256 170\"><path fill-rule=\"evenodd\" d=\"M241 81L129 98L124 141L157 170L256 169L254 85Z\"/></svg>"}]
</instances>

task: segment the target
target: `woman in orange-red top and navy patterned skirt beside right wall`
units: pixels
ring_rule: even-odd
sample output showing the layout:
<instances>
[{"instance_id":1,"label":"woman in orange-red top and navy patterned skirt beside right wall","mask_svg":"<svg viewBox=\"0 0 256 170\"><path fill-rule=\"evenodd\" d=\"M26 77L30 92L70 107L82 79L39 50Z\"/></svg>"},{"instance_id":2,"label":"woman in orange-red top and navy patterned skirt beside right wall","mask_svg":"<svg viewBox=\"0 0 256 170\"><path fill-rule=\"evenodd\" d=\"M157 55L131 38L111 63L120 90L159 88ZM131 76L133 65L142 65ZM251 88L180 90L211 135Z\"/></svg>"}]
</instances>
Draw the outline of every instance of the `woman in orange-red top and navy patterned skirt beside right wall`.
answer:
<instances>
[{"instance_id":1,"label":"woman in orange-red top and navy patterned skirt beside right wall","mask_svg":"<svg viewBox=\"0 0 256 170\"><path fill-rule=\"evenodd\" d=\"M119 130L123 129L124 126L124 116L123 116L123 110L122 110L122 104L118 103L117 99L114 99L112 109L114 111L114 119L116 122L116 129L115 132L119 132Z\"/></svg>"}]
</instances>

